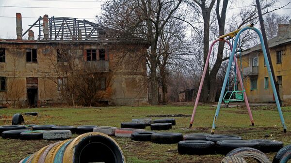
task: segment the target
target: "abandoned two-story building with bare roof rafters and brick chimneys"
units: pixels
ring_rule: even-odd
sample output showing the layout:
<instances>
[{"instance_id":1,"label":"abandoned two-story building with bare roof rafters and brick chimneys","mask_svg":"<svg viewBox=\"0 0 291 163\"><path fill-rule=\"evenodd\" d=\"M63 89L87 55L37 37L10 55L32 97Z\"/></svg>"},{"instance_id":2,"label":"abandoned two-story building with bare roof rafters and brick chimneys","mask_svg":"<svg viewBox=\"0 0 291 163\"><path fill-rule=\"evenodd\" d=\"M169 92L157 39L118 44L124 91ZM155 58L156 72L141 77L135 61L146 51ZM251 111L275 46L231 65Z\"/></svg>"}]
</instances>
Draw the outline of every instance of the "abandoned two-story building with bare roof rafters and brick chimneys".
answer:
<instances>
[{"instance_id":1,"label":"abandoned two-story building with bare roof rafters and brick chimneys","mask_svg":"<svg viewBox=\"0 0 291 163\"><path fill-rule=\"evenodd\" d=\"M32 28L38 30L37 39ZM2 105L77 105L90 96L94 104L85 105L147 104L146 60L138 57L146 53L146 42L118 38L86 20L48 15L23 33L20 13L16 35L0 39Z\"/></svg>"}]
</instances>

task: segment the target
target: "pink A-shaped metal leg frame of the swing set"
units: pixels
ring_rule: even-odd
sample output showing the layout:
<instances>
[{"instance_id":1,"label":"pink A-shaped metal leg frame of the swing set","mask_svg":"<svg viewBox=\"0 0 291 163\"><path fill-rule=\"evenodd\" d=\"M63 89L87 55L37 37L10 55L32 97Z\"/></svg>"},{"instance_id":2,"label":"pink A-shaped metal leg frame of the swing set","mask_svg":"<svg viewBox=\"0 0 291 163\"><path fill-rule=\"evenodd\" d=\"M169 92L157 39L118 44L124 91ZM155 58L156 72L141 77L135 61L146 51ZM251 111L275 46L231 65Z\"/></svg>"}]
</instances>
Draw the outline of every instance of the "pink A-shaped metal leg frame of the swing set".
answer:
<instances>
[{"instance_id":1,"label":"pink A-shaped metal leg frame of the swing set","mask_svg":"<svg viewBox=\"0 0 291 163\"><path fill-rule=\"evenodd\" d=\"M229 45L230 49L232 50L232 45L226 39L216 39L216 40L214 40L210 44L210 48L209 48L208 55L207 55L207 59L206 59L206 63L205 63L204 69L203 69L203 74L202 74L201 81L200 81L200 85L199 85L199 89L198 89L198 92L197 92L197 96L196 96L196 100L195 100L194 109L193 109L193 113L192 113L192 116L191 116L189 128L191 128L192 125L193 125L194 116L195 116L195 113L196 113L196 108L198 106L198 102L199 102L199 98L200 98L200 94L201 94L201 90L202 90L204 78L205 78L206 71L207 71L207 67L208 67L208 64L209 64L209 59L210 59L211 51L212 51L213 45L216 42L218 42L218 41L224 41L224 42L226 42ZM234 60L235 59L236 59L236 57L234 57ZM242 76L241 76L241 72L240 72L240 69L239 69L239 66L238 66L237 62L236 62L236 68L237 68L237 74L239 76L240 85L241 85L241 88L243 89ZM252 125L254 125L254 120L253 120L252 112L251 112L251 109L250 109L250 106L249 106L249 103L248 103L248 100L247 100L247 96L246 96L245 91L243 92L243 97L245 99L244 101L245 101L245 104L246 104L246 108L248 110L249 117L251 119L251 123L252 123Z\"/></svg>"}]
</instances>

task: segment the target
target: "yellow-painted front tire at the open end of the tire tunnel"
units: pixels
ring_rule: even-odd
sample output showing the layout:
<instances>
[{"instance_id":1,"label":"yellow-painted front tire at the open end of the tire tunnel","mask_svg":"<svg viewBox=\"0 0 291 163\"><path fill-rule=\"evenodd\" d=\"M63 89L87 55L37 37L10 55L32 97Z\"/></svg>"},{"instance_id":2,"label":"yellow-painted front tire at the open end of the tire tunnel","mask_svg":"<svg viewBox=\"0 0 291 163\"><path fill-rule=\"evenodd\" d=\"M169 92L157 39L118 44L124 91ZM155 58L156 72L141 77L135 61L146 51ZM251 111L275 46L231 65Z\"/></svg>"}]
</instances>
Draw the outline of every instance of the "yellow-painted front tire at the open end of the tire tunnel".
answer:
<instances>
[{"instance_id":1,"label":"yellow-painted front tire at the open end of the tire tunnel","mask_svg":"<svg viewBox=\"0 0 291 163\"><path fill-rule=\"evenodd\" d=\"M125 158L113 138L91 132L76 137L65 149L63 157L63 163L85 162L125 163Z\"/></svg>"}]
</instances>

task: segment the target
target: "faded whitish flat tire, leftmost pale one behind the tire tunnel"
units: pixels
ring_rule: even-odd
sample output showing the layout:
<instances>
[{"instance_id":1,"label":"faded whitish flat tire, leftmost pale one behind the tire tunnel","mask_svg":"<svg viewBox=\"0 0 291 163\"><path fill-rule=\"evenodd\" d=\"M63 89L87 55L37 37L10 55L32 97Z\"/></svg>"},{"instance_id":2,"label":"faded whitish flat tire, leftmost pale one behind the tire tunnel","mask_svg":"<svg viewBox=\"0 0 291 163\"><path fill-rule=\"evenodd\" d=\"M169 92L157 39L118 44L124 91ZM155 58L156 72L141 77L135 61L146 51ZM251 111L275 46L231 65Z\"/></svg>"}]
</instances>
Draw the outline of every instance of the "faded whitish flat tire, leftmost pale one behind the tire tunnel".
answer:
<instances>
[{"instance_id":1,"label":"faded whitish flat tire, leftmost pale one behind the tire tunnel","mask_svg":"<svg viewBox=\"0 0 291 163\"><path fill-rule=\"evenodd\" d=\"M71 136L70 130L49 130L43 133L44 139L68 139Z\"/></svg>"}]
</instances>

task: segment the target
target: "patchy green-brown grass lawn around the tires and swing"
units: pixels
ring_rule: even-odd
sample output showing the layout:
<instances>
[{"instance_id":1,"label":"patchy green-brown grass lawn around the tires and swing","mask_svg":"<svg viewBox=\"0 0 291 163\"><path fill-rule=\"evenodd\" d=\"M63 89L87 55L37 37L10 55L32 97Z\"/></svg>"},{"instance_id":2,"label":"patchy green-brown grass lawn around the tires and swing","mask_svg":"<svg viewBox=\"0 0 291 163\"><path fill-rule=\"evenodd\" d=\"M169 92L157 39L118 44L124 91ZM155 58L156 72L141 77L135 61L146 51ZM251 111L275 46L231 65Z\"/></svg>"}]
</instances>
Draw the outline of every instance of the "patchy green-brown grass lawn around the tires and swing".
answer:
<instances>
[{"instance_id":1,"label":"patchy green-brown grass lawn around the tires and swing","mask_svg":"<svg viewBox=\"0 0 291 163\"><path fill-rule=\"evenodd\" d=\"M193 128L189 129L189 117L193 106L144 106L144 107L94 107L94 108L32 108L32 109L0 109L0 125L10 125L15 113L36 111L38 117L24 116L26 124L56 125L98 125L120 127L120 122L135 118L154 117L156 115L183 114L185 117L174 117L176 125L169 132L210 133L216 107L202 105L197 108ZM217 120L217 134L237 134L243 139L268 139L291 144L291 107L283 107L287 133L283 133L281 121L274 105L251 107L255 126L251 127L245 107L222 108ZM9 119L9 120L7 120ZM150 130L146 127L146 130ZM73 135L78 136L77 134ZM125 155L127 163L220 163L223 155L180 155L177 144L162 145L151 142L137 142L126 138L115 139ZM56 141L0 138L0 163L18 163L21 159L40 148ZM270 160L275 153L267 154Z\"/></svg>"}]
</instances>

